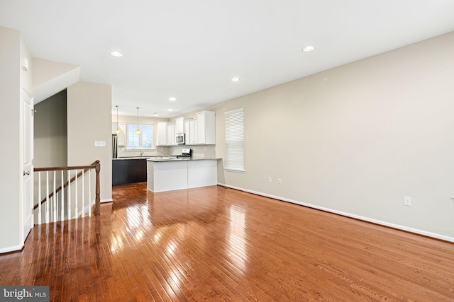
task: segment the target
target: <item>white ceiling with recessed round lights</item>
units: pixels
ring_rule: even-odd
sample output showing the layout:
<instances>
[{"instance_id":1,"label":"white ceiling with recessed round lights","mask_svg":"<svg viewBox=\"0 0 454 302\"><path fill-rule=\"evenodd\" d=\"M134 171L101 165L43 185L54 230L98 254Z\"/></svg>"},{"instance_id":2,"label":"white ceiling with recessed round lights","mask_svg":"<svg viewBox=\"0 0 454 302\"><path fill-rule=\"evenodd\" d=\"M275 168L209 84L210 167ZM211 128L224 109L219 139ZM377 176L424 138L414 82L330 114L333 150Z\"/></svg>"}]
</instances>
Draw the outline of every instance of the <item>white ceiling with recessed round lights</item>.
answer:
<instances>
[{"instance_id":1,"label":"white ceiling with recessed round lights","mask_svg":"<svg viewBox=\"0 0 454 302\"><path fill-rule=\"evenodd\" d=\"M449 33L454 1L0 0L0 26L111 84L113 111L174 117Z\"/></svg>"}]
</instances>

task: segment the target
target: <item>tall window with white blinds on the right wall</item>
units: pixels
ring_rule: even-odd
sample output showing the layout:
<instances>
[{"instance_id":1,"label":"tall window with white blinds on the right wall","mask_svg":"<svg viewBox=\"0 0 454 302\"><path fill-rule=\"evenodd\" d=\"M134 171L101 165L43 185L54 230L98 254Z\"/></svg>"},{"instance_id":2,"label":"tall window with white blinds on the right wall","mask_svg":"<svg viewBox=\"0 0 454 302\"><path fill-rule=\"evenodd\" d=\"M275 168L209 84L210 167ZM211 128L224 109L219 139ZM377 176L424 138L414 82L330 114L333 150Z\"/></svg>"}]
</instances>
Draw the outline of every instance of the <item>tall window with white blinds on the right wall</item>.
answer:
<instances>
[{"instance_id":1,"label":"tall window with white blinds on the right wall","mask_svg":"<svg viewBox=\"0 0 454 302\"><path fill-rule=\"evenodd\" d=\"M225 112L226 170L244 170L244 108Z\"/></svg>"}]
</instances>

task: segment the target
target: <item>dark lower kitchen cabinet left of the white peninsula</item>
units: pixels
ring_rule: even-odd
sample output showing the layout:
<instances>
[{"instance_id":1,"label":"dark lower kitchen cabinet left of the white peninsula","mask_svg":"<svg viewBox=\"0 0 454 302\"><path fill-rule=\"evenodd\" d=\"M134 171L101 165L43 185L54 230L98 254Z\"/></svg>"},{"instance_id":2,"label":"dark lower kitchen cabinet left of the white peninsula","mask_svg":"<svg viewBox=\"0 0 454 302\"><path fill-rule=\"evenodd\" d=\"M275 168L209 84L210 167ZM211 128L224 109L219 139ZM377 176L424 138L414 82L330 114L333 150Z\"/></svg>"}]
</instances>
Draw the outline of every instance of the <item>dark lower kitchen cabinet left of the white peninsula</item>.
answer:
<instances>
[{"instance_id":1,"label":"dark lower kitchen cabinet left of the white peninsula","mask_svg":"<svg viewBox=\"0 0 454 302\"><path fill-rule=\"evenodd\" d=\"M146 158L112 160L112 185L146 181Z\"/></svg>"}]
</instances>

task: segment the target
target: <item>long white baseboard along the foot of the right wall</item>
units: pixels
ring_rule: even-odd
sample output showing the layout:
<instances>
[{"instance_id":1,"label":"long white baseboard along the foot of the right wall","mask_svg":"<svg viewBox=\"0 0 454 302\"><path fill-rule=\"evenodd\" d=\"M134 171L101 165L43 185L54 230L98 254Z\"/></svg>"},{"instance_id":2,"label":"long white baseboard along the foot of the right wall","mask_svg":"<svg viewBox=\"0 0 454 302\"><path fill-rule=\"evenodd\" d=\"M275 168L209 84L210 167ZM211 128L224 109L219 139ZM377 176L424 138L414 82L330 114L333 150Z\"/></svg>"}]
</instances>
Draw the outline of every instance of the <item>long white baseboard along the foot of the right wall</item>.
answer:
<instances>
[{"instance_id":1,"label":"long white baseboard along the foot of the right wall","mask_svg":"<svg viewBox=\"0 0 454 302\"><path fill-rule=\"evenodd\" d=\"M263 196L263 197L270 197L272 199L281 200L283 202L291 202L292 204L299 204L299 205L304 206L304 207L309 207L309 208L312 208L312 209L319 209L321 211L326 211L326 212L329 212L329 213L338 214L338 215L342 215L342 216L346 216L346 217L350 217L350 218L354 218L354 219L358 219L358 220L362 220L362 221L376 223L376 224L380 224L382 226L388 226L389 228L397 228L398 230L407 231L407 232L411 232L411 233L416 233L416 234L419 234L419 235L428 236L428 237L431 237L431 238L441 239L441 240L445 240L445 241L450 241L450 242L454 243L454 238L453 237L441 235L441 234L438 234L438 233L431 233L431 232L428 232L428 231L419 230L417 228L409 228L408 226L401 226L399 224L389 223L387 221L380 221L380 220L377 220L377 219L370 219L368 217L358 216L358 215L346 213L346 212L343 212L343 211L337 211L337 210L334 210L334 209L328 209L328 208L325 208L325 207L319 207L319 206L316 206L314 204L307 204L305 202L298 202L298 201L292 200L292 199L282 198L282 197L278 197L278 196L275 196L275 195L265 194L265 193L262 193L262 192L256 192L256 191L253 191L253 190L247 190L247 189L244 189L242 187L234 187L234 186L226 185L226 184L223 184L223 183L218 183L218 185L220 185L222 187L230 187L231 189L240 190L240 191L243 191L243 192L248 192L248 193L260 195L260 196Z\"/></svg>"}]
</instances>

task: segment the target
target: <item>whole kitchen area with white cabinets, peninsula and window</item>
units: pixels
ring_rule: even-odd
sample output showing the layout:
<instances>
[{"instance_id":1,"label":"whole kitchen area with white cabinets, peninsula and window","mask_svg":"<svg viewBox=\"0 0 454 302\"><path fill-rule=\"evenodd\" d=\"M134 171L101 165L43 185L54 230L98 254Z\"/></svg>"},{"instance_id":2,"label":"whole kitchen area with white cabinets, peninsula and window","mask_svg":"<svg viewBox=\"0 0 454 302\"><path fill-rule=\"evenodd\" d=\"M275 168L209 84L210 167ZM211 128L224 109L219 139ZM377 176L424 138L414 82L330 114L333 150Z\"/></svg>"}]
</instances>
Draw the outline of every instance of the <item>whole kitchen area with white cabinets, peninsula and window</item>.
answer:
<instances>
[{"instance_id":1,"label":"whole kitchen area with white cabinets, peninsula and window","mask_svg":"<svg viewBox=\"0 0 454 302\"><path fill-rule=\"evenodd\" d=\"M215 112L173 121L141 117L139 123L118 115L114 119L112 185L147 182L151 192L217 185ZM142 136L135 135L136 130Z\"/></svg>"}]
</instances>

